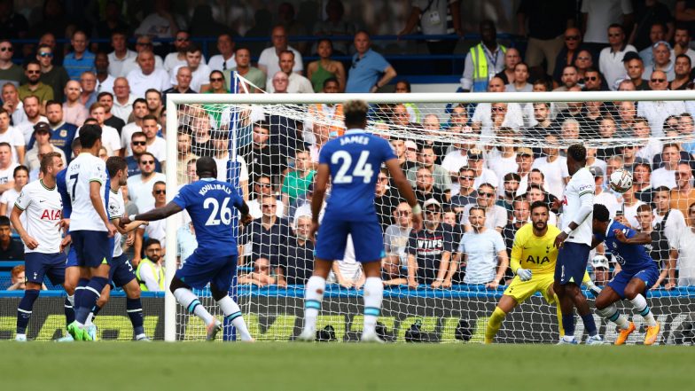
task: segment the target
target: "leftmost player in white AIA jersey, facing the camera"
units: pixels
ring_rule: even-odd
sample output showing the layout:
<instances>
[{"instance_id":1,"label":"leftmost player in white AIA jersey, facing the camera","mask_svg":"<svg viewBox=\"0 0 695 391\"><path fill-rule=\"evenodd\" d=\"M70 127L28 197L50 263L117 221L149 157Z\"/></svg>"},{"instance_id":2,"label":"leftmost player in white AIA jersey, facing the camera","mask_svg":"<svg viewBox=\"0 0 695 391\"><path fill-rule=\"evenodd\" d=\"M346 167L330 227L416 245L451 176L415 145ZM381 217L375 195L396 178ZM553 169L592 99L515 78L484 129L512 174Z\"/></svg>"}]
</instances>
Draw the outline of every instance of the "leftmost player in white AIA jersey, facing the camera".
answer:
<instances>
[{"instance_id":1,"label":"leftmost player in white AIA jersey, facing the camera","mask_svg":"<svg viewBox=\"0 0 695 391\"><path fill-rule=\"evenodd\" d=\"M57 152L50 152L41 160L43 179L24 186L12 209L10 220L24 242L27 289L17 308L16 340L27 340L27 325L34 301L39 297L43 277L53 285L63 284L66 256L60 242L62 234L58 223L62 218L63 202L56 189L56 174L63 169L63 160ZM25 214L27 219L20 219ZM25 223L22 223L25 221ZM26 226L25 226L26 224ZM72 323L74 311L66 301L66 320Z\"/></svg>"}]
</instances>

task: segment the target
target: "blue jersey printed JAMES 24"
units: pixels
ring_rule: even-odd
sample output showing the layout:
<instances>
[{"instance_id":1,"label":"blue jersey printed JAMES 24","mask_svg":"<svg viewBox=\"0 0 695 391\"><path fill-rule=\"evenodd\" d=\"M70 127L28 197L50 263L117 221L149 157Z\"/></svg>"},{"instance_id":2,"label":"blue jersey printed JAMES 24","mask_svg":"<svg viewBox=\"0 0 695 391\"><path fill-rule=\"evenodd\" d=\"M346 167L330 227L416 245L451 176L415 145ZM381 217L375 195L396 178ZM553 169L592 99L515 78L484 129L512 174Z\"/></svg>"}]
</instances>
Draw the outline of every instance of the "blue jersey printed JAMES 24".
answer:
<instances>
[{"instance_id":1,"label":"blue jersey printed JAMES 24","mask_svg":"<svg viewBox=\"0 0 695 391\"><path fill-rule=\"evenodd\" d=\"M346 221L376 218L374 197L379 169L391 159L396 156L387 140L362 129L349 129L326 143L318 156L319 164L331 169L331 196L325 215Z\"/></svg>"}]
</instances>

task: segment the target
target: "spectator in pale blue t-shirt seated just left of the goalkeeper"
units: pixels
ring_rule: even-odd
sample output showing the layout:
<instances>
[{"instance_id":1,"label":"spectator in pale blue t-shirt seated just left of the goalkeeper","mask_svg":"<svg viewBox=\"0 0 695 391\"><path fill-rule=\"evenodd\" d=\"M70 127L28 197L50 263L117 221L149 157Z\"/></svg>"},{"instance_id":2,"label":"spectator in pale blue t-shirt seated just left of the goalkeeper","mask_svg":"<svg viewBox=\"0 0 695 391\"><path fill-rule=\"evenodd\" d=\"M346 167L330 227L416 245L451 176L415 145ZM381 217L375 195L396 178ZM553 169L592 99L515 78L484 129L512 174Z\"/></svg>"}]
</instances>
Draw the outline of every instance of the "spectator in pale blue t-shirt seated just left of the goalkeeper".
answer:
<instances>
[{"instance_id":1,"label":"spectator in pale blue t-shirt seated just left of the goalkeeper","mask_svg":"<svg viewBox=\"0 0 695 391\"><path fill-rule=\"evenodd\" d=\"M451 263L447 278L454 278L460 262L465 265L464 284L496 289L502 284L504 272L509 267L504 239L499 231L488 228L485 207L472 207L467 225L471 229L465 232L458 244L458 259Z\"/></svg>"}]
</instances>

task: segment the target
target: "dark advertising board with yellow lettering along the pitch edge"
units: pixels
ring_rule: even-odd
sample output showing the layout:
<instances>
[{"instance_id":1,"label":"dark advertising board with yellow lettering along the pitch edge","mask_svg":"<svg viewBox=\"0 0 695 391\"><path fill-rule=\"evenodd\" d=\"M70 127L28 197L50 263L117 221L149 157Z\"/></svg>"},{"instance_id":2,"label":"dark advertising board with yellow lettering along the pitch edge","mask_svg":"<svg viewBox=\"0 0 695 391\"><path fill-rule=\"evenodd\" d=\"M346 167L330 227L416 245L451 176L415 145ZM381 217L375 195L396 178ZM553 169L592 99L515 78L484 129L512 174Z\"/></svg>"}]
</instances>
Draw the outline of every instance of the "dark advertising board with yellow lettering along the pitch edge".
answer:
<instances>
[{"instance_id":1,"label":"dark advertising board with yellow lettering along the pitch edge","mask_svg":"<svg viewBox=\"0 0 695 391\"><path fill-rule=\"evenodd\" d=\"M391 297L385 301L379 323L379 331L389 341L415 342L481 342L488 316L495 309L497 295L480 295L472 300L464 298L441 299L436 297ZM144 297L144 328L148 336L162 340L164 336L164 299ZM214 301L201 297L208 309L216 310ZM0 340L14 338L17 305L20 297L0 297ZM30 340L55 340L64 335L65 316L64 297L40 297L27 330ZM256 340L288 341L301 332L303 301L301 297L277 297L264 295L244 295L239 297L239 305L244 312L249 331ZM683 329L691 332L695 320L695 301L690 296L652 297L650 305L661 327L661 344L683 343ZM316 323L317 330L331 326L330 334L338 341L358 340L363 325L363 300L357 295L326 297L322 312ZM634 316L630 309L622 309L632 317L637 331L630 336L628 343L641 343L644 340L643 319ZM179 307L177 332L179 339L204 340L205 326L197 317L185 314ZM349 315L348 315L349 314ZM217 314L219 317L220 314ZM607 322L594 315L599 332L605 340L615 340L615 327L606 327ZM124 297L112 297L97 317L102 340L132 340L133 332L126 315ZM577 317L576 335L585 339L583 325ZM539 296L531 297L519 308L512 311L504 320L496 341L503 343L554 343L558 340L555 307L546 304Z\"/></svg>"}]
</instances>

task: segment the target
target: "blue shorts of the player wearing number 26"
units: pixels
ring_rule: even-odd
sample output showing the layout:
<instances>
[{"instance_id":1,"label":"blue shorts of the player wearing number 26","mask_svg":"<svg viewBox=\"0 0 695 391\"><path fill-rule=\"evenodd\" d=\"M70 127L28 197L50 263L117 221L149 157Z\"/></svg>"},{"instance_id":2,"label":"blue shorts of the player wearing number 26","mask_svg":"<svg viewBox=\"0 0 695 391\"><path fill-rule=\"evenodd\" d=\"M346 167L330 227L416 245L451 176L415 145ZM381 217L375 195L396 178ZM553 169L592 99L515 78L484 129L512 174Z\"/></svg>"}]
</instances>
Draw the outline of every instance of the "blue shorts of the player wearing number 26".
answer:
<instances>
[{"instance_id":1,"label":"blue shorts of the player wearing number 26","mask_svg":"<svg viewBox=\"0 0 695 391\"><path fill-rule=\"evenodd\" d=\"M229 290L231 278L237 275L237 255L220 256L195 250L184 266L176 270L176 278L193 288L203 289L207 283L219 290Z\"/></svg>"}]
</instances>

